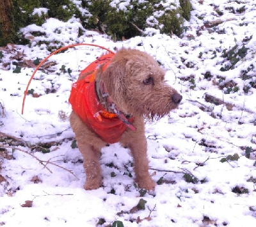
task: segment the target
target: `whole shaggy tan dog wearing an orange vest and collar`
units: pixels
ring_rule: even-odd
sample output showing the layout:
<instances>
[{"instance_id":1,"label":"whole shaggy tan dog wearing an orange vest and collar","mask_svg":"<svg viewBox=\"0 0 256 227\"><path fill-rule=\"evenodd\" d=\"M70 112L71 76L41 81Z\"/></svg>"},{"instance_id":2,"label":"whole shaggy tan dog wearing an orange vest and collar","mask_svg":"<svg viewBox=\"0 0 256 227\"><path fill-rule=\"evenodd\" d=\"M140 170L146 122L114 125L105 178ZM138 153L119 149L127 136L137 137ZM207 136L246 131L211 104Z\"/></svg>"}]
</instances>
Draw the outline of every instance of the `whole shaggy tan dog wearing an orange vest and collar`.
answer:
<instances>
[{"instance_id":1,"label":"whole shaggy tan dog wearing an orange vest and collar","mask_svg":"<svg viewBox=\"0 0 256 227\"><path fill-rule=\"evenodd\" d=\"M83 70L69 101L73 109L70 124L84 159L84 189L100 187L100 150L117 141L131 150L138 186L154 189L156 184L148 173L144 119L167 115L181 100L164 81L158 63L145 52L121 49Z\"/></svg>"}]
</instances>

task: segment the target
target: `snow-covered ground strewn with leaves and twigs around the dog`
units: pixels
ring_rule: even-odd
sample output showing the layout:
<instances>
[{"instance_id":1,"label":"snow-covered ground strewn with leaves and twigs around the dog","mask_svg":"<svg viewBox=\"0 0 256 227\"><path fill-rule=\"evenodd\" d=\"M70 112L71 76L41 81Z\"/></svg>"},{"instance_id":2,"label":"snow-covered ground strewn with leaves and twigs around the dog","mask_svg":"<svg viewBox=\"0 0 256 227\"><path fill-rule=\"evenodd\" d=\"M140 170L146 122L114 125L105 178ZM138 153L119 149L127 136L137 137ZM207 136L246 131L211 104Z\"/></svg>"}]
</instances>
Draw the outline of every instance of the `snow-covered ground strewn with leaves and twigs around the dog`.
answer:
<instances>
[{"instance_id":1,"label":"snow-covered ground strewn with leaves and twigs around the dog","mask_svg":"<svg viewBox=\"0 0 256 227\"><path fill-rule=\"evenodd\" d=\"M256 3L192 6L182 38L113 42L93 31L78 38L77 20L48 19L24 28L31 47L0 47L0 226L256 226ZM35 45L39 39L139 49L166 69L183 100L170 117L147 123L154 192L134 185L131 155L118 144L102 150L103 186L83 189L68 97L79 71L106 51L83 46L52 56L31 82L21 114L33 61L49 54ZM6 148L13 143L20 145Z\"/></svg>"}]
</instances>

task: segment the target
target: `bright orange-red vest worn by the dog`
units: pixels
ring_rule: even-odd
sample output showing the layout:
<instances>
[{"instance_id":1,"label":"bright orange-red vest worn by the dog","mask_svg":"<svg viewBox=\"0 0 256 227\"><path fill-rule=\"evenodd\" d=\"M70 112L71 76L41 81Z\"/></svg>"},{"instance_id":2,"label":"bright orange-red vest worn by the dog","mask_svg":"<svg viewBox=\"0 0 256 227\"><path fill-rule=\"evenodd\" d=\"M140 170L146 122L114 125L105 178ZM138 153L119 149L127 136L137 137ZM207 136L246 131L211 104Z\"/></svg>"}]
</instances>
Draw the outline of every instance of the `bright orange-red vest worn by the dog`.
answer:
<instances>
[{"instance_id":1,"label":"bright orange-red vest worn by the dog","mask_svg":"<svg viewBox=\"0 0 256 227\"><path fill-rule=\"evenodd\" d=\"M109 64L114 54L106 54L93 61L80 74L92 72L83 80L72 84L69 102L73 111L106 143L117 143L127 129L116 114L108 113L97 100L94 74L101 64ZM106 67L106 65L105 65ZM104 67L104 68L105 68ZM99 116L100 115L100 116ZM134 119L129 118L132 122Z\"/></svg>"}]
</instances>

